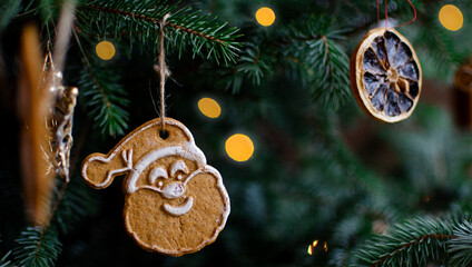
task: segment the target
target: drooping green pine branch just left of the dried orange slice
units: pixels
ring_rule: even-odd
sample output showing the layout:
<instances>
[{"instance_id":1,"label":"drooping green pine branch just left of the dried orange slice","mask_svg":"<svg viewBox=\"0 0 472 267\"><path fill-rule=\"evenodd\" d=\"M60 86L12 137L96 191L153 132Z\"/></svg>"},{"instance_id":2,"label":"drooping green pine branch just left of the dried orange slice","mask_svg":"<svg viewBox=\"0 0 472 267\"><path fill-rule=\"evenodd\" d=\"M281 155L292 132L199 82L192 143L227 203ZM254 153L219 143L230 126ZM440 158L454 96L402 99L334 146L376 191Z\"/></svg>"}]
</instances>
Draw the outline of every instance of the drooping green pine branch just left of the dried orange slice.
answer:
<instances>
[{"instance_id":1,"label":"drooping green pine branch just left of the dried orange slice","mask_svg":"<svg viewBox=\"0 0 472 267\"><path fill-rule=\"evenodd\" d=\"M238 92L245 80L259 86L263 78L264 82L273 78L277 66L286 65L313 91L315 101L338 108L351 92L348 57L338 43L345 31L335 29L325 18L308 17L282 32L275 38L260 33L246 42L237 65L218 76L224 88Z\"/></svg>"}]
</instances>

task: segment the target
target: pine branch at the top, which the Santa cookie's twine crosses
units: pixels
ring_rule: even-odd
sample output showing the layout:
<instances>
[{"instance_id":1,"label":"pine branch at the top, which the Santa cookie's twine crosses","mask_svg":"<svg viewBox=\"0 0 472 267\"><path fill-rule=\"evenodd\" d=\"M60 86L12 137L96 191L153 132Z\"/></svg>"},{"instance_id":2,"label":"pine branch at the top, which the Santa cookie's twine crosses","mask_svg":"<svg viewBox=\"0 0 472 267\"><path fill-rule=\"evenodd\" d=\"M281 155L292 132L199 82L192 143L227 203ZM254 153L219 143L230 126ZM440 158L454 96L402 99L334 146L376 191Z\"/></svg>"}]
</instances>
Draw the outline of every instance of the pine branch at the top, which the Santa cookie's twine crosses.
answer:
<instances>
[{"instance_id":1,"label":"pine branch at the top, which the Santa cookie's twine crosses","mask_svg":"<svg viewBox=\"0 0 472 267\"><path fill-rule=\"evenodd\" d=\"M200 14L189 7L178 9L168 6L166 0L86 1L78 6L77 26L87 34L104 38L114 33L118 40L127 39L130 47L135 42L147 46L157 55L159 23L166 13L166 37L168 47L177 49L179 56L187 47L195 55L235 61L240 44L235 41L237 28L226 28L210 14ZM205 51L204 49L205 48Z\"/></svg>"}]
</instances>

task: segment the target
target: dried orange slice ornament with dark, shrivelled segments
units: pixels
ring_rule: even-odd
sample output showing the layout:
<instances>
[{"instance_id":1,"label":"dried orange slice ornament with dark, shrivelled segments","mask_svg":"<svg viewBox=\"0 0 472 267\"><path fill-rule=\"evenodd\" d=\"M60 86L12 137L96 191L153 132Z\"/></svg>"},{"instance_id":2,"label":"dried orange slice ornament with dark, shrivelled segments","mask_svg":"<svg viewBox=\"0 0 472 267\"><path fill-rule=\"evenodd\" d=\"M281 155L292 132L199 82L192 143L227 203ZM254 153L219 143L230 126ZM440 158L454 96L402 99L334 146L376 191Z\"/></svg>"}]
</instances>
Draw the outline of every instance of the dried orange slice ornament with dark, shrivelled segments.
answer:
<instances>
[{"instance_id":1,"label":"dried orange slice ornament with dark, shrivelled segments","mask_svg":"<svg viewBox=\"0 0 472 267\"><path fill-rule=\"evenodd\" d=\"M358 106L383 122L410 117L421 92L421 66L412 44L394 29L371 30L351 57Z\"/></svg>"}]
</instances>

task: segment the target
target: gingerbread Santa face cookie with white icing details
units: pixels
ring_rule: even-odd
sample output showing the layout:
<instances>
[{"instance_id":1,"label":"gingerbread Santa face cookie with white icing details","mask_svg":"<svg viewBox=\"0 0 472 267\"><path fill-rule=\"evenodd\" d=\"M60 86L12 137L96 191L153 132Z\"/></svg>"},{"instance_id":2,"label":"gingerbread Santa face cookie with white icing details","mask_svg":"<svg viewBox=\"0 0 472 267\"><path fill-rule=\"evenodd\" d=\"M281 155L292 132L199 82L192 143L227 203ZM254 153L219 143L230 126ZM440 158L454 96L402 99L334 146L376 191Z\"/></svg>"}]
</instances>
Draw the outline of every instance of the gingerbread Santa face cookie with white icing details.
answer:
<instances>
[{"instance_id":1,"label":"gingerbread Santa face cookie with white icing details","mask_svg":"<svg viewBox=\"0 0 472 267\"><path fill-rule=\"evenodd\" d=\"M88 156L82 177L102 189L125 175L128 234L145 249L181 256L215 241L229 215L229 197L190 131L166 118L168 136L161 138L160 123L160 118L144 123L108 155Z\"/></svg>"}]
</instances>

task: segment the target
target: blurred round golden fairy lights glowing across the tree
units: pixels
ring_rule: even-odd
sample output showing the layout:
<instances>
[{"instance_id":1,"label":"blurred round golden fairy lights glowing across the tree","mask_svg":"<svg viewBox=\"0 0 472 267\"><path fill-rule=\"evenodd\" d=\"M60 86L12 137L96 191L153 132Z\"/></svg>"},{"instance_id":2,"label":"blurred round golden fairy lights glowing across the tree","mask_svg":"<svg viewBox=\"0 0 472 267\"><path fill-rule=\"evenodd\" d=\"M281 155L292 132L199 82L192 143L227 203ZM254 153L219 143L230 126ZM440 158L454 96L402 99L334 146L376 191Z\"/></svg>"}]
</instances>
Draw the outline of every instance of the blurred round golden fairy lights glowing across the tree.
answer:
<instances>
[{"instance_id":1,"label":"blurred round golden fairy lights glowing across the tree","mask_svg":"<svg viewBox=\"0 0 472 267\"><path fill-rule=\"evenodd\" d=\"M263 27L269 27L275 22L275 12L267 7L259 8L255 13L256 21ZM458 31L463 27L464 18L461 10L454 4L443 6L437 18L440 23L450 31ZM96 46L97 56L102 60L110 60L115 57L115 46L109 41L100 41ZM216 119L222 115L222 107L212 98L205 97L198 100L198 110L209 119ZM247 161L254 154L254 144L252 139L243 134L234 134L226 139L225 150L229 158L235 161ZM308 245L307 254L313 255L315 249L322 247L322 251L327 251L327 243L318 246L321 241L315 239Z\"/></svg>"}]
</instances>

